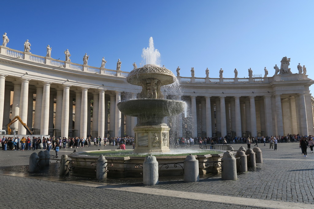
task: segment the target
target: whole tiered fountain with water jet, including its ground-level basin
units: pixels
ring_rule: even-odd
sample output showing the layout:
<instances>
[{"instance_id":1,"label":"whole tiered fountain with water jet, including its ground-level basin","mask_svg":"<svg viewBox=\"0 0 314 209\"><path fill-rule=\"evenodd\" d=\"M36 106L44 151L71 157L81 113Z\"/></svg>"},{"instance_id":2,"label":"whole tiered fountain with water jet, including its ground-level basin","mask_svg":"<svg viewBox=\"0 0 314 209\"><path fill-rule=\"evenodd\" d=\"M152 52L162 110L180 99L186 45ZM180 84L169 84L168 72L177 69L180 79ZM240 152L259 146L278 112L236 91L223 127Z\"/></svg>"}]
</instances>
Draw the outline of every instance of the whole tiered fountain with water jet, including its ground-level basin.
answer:
<instances>
[{"instance_id":1,"label":"whole tiered fountain with water jet, including its ground-level basin","mask_svg":"<svg viewBox=\"0 0 314 209\"><path fill-rule=\"evenodd\" d=\"M149 39L149 48L143 49L142 57L145 65L134 69L127 76L127 82L142 86L142 91L137 99L117 103L117 107L123 114L138 118L138 123L134 127L135 149L133 152L132 150L74 152L69 155L77 168L73 172L94 175L95 171L93 172L93 170L95 169L90 162L97 160L99 155L103 154L108 162L114 164L112 168L108 167L108 176L141 177L141 170L136 169L137 165L143 164L145 155L154 154L159 163L159 169L166 168L159 174L160 176L182 175L181 166L183 166L184 159L188 154L194 153L200 162L200 174L217 173L219 166L206 162L220 159L222 157L220 152L213 154L209 150L197 149L170 151L170 128L163 123L163 118L182 113L186 108L186 103L166 99L160 90L161 86L176 82L176 77L170 70L158 65L160 53L154 49L152 37ZM168 169L169 165L174 166Z\"/></svg>"}]
</instances>

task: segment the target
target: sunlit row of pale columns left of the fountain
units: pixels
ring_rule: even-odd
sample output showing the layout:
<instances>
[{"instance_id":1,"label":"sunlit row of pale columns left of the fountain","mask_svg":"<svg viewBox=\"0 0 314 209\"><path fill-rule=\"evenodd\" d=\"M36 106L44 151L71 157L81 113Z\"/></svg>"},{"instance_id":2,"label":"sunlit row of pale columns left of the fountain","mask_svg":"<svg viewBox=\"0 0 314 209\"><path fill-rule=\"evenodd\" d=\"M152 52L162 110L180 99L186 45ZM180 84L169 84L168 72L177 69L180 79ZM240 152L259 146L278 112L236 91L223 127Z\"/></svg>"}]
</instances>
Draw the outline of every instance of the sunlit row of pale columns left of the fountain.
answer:
<instances>
[{"instance_id":1,"label":"sunlit row of pale columns left of the fountain","mask_svg":"<svg viewBox=\"0 0 314 209\"><path fill-rule=\"evenodd\" d=\"M69 134L80 137L96 134L103 137L108 136L109 132L111 136L124 135L124 116L116 107L116 104L121 101L122 91L106 91L105 88L91 89L67 84L57 85L24 78L6 81L5 78L6 75L0 75L0 97L3 98L0 100L0 109L4 110L3 114L0 114L0 126L3 129L15 115L19 115L29 128L38 130L38 134L43 135L51 134L51 130L59 131L56 135L61 137L68 137ZM51 85L57 85L57 87L51 87ZM136 94L133 93L132 97L136 98ZM91 99L93 100L92 129L90 128ZM108 120L108 101L111 104L110 116L113 116L109 117L110 120ZM127 134L133 136L132 127L136 125L136 118L127 116L127 121L129 121ZM26 134L22 123L13 123L11 129L18 130L18 134Z\"/></svg>"}]
</instances>

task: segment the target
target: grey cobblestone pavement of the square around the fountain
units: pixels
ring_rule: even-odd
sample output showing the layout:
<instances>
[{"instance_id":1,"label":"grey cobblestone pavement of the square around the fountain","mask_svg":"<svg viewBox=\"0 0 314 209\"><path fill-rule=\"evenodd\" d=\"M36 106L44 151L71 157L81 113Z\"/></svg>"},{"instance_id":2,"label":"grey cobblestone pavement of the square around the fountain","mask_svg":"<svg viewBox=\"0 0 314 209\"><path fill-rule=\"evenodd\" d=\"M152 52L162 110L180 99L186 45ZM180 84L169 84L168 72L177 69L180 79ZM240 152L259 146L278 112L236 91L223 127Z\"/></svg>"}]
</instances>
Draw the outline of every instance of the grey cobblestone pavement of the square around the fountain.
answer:
<instances>
[{"instance_id":1,"label":"grey cobblestone pavement of the square around the fountain","mask_svg":"<svg viewBox=\"0 0 314 209\"><path fill-rule=\"evenodd\" d=\"M233 146L238 149L241 145ZM278 202L283 205L291 202L293 208L314 207L314 153L308 149L308 157L303 157L298 143L278 144L278 151L268 149L268 144L259 147L263 151L263 164L257 164L256 171L238 174L236 181L222 181L220 175L204 175L197 183L185 183L182 177L163 177L155 186L144 186L140 178L97 181L48 178L50 173L45 177L30 175L27 165L33 151L0 150L0 191L7 194L1 200L1 208L275 208L279 207L275 204ZM101 149L112 148L101 146ZM99 148L78 151L91 149ZM61 149L59 156L71 152L73 149ZM56 165L50 167L57 172ZM134 189L128 191L128 186ZM152 192L143 193L147 189ZM165 192L154 193L154 190ZM169 191L182 192L182 196L168 195ZM184 192L190 196L184 196ZM222 201L219 196L239 201ZM266 201L270 206L261 207L245 200Z\"/></svg>"}]
</instances>

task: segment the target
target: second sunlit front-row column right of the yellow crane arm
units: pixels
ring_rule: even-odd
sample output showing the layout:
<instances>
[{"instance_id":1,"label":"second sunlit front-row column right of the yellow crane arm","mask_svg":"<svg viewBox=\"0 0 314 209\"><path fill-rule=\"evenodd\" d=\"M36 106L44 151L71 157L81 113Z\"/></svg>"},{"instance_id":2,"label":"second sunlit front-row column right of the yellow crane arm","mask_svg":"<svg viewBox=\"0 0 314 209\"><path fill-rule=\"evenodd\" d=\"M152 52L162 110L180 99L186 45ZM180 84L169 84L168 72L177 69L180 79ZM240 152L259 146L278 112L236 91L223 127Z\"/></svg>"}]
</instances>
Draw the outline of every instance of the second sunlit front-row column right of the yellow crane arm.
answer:
<instances>
[{"instance_id":1,"label":"second sunlit front-row column right of the yellow crane arm","mask_svg":"<svg viewBox=\"0 0 314 209\"><path fill-rule=\"evenodd\" d=\"M69 101L70 101L69 97L70 97L70 86L63 85L61 137L66 137L66 138L68 138L69 136Z\"/></svg>"}]
</instances>

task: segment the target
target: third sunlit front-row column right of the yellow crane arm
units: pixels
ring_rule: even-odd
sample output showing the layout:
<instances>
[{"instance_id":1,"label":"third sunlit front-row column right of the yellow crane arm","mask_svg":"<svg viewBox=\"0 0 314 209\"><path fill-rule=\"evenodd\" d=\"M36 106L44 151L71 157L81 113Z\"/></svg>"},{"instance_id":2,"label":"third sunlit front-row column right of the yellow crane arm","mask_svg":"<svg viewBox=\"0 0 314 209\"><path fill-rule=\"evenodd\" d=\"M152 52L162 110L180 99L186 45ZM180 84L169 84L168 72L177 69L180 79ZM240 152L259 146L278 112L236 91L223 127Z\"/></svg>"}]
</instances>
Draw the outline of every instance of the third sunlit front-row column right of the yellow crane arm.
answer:
<instances>
[{"instance_id":1,"label":"third sunlit front-row column right of the yellow crane arm","mask_svg":"<svg viewBox=\"0 0 314 209\"><path fill-rule=\"evenodd\" d=\"M80 118L80 137L87 137L87 114L88 114L88 99L87 99L88 88L82 88L82 103L81 103L81 118Z\"/></svg>"}]
</instances>

